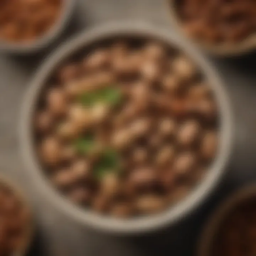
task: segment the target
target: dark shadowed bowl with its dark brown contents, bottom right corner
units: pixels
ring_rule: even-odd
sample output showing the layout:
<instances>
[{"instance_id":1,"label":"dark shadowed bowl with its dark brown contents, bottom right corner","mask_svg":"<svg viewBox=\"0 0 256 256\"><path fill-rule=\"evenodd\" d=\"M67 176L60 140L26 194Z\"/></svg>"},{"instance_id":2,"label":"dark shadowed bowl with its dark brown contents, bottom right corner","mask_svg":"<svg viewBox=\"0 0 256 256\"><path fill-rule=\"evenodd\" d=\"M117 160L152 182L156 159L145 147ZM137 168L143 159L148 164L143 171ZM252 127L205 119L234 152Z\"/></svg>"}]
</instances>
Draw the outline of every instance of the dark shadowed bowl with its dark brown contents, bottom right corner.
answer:
<instances>
[{"instance_id":1,"label":"dark shadowed bowl with its dark brown contents, bottom right corner","mask_svg":"<svg viewBox=\"0 0 256 256\"><path fill-rule=\"evenodd\" d=\"M254 255L255 213L255 185L242 188L225 199L203 230L198 255Z\"/></svg>"}]
</instances>

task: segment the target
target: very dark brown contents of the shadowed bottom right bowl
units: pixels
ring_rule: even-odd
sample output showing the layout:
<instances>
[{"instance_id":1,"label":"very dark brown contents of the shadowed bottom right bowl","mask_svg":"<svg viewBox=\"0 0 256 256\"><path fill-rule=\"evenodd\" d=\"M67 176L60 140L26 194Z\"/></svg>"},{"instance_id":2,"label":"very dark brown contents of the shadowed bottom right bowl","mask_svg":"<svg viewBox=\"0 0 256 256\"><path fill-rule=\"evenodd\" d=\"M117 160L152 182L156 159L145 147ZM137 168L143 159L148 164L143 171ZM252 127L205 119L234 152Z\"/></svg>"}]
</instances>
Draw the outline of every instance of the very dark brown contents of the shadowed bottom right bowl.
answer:
<instances>
[{"instance_id":1,"label":"very dark brown contents of the shadowed bottom right bowl","mask_svg":"<svg viewBox=\"0 0 256 256\"><path fill-rule=\"evenodd\" d=\"M251 256L256 252L256 200L240 203L226 216L216 241L212 256Z\"/></svg>"}]
</instances>

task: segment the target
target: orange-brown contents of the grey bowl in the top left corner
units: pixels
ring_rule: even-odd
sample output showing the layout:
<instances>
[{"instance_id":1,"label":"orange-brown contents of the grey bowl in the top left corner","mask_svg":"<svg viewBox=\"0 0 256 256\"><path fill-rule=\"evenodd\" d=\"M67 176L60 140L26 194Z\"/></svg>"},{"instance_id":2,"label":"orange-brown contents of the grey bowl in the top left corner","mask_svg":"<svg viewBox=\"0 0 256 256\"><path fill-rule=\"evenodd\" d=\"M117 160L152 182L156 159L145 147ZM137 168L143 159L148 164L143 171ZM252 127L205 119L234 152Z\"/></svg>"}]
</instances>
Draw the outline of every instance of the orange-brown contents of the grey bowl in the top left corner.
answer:
<instances>
[{"instance_id":1,"label":"orange-brown contents of the grey bowl in the top left corner","mask_svg":"<svg viewBox=\"0 0 256 256\"><path fill-rule=\"evenodd\" d=\"M57 21L62 0L1 0L0 40L29 42Z\"/></svg>"}]
</instances>

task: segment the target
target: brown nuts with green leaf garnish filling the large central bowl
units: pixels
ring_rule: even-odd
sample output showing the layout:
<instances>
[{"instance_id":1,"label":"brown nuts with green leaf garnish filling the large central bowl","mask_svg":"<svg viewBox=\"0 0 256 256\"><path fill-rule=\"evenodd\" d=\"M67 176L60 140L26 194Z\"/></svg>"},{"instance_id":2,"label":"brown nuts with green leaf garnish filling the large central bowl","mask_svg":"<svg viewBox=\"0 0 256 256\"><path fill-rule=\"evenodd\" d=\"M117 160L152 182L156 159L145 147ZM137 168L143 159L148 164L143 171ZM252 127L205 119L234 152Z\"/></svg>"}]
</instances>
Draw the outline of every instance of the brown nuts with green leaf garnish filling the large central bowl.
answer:
<instances>
[{"instance_id":1,"label":"brown nuts with green leaf garnish filling the large central bowl","mask_svg":"<svg viewBox=\"0 0 256 256\"><path fill-rule=\"evenodd\" d=\"M117 217L150 214L201 181L218 148L218 109L184 53L113 41L55 73L35 113L35 141L71 201Z\"/></svg>"}]
</instances>

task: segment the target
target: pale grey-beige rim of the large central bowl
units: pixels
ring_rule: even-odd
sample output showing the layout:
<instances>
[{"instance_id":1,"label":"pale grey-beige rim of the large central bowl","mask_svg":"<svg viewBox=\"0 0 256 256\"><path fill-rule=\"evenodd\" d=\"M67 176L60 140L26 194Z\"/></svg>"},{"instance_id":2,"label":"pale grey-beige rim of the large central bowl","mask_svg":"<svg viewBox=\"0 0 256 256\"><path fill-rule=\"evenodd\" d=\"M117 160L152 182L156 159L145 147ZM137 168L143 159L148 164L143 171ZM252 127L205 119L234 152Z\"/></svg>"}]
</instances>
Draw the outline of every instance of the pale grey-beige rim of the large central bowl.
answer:
<instances>
[{"instance_id":1,"label":"pale grey-beige rim of the large central bowl","mask_svg":"<svg viewBox=\"0 0 256 256\"><path fill-rule=\"evenodd\" d=\"M53 186L43 174L42 167L36 160L36 155L33 150L32 139L32 115L34 106L37 102L37 97L40 94L40 90L44 85L45 80L48 78L50 71L59 63L61 63L67 57L71 57L79 49L84 49L93 42L101 41L102 39L111 38L113 36L132 36L132 37L153 37L165 41L170 46L185 49L185 52L189 55L194 62L202 67L202 71L206 74L208 80L212 82L212 88L217 95L216 100L220 108L220 119L222 123L221 137L220 137L220 150L217 156L217 160L214 162L211 170L209 170L204 181L197 187L197 189L190 193L189 196L182 202L173 206L171 210L159 213L154 216L134 218L127 220L119 220L111 217L105 217L92 213L86 210L80 210L77 206L68 202L66 199L57 193ZM203 56L198 53L190 44L182 41L181 38L176 37L174 34L170 34L169 30L164 28L150 25L145 22L120 22L120 23L107 23L102 26L92 28L85 33L81 33L74 39L71 39L52 54L46 62L43 63L38 73L35 75L30 86L28 87L27 94L23 101L23 106L20 116L20 146L22 158L27 167L26 170L30 172L30 175L34 177L34 183L37 188L44 193L49 201L53 203L56 208L62 210L67 215L71 216L79 223L89 225L94 228L98 228L101 231L119 234L140 233L150 230L155 230L166 224L173 223L174 221L184 217L188 212L195 208L199 202L203 201L203 198L213 189L217 184L221 175L224 172L224 166L229 159L231 151L231 138L232 138L232 116L230 111L229 99L226 96L224 87L221 85L217 74L210 67L208 62Z\"/></svg>"}]
</instances>

